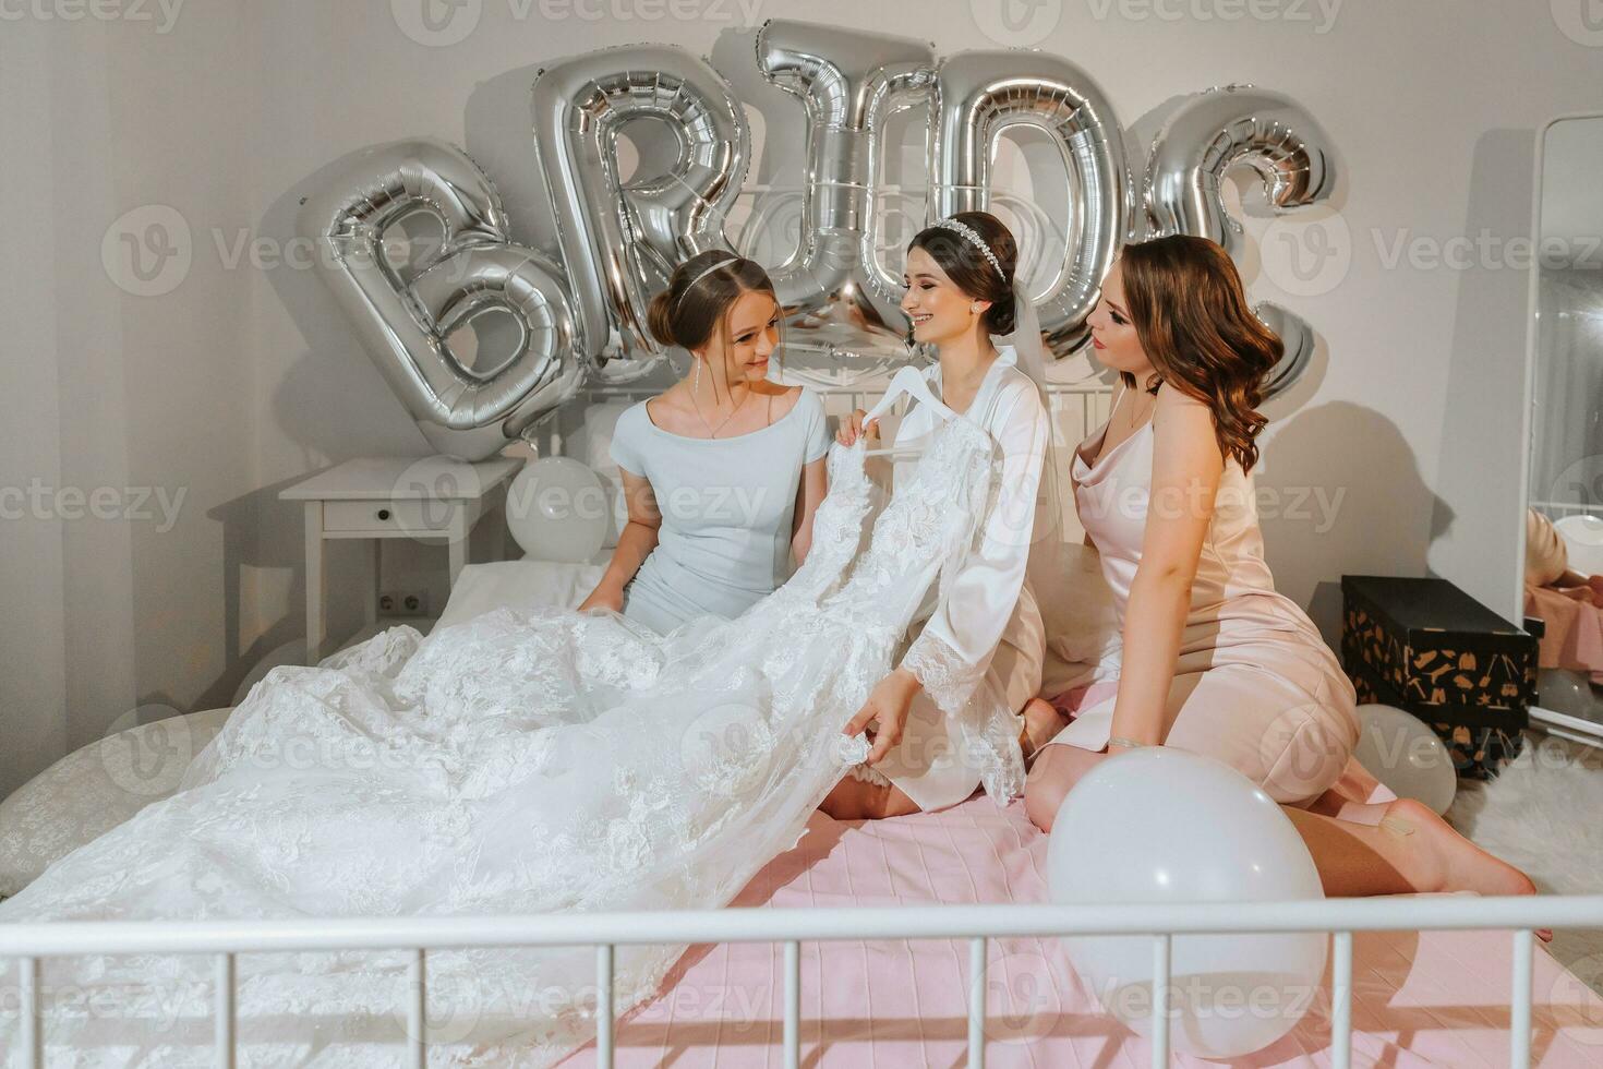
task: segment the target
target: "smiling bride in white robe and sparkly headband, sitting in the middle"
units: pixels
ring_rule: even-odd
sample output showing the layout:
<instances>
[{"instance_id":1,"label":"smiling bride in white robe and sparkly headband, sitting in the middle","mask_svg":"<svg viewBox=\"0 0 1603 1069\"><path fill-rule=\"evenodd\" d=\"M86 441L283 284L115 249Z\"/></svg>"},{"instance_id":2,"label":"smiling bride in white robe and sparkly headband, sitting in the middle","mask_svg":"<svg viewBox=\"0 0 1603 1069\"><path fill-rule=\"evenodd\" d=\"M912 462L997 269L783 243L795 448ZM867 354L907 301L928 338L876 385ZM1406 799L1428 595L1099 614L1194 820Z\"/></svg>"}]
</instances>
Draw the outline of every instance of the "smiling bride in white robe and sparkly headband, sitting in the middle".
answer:
<instances>
[{"instance_id":1,"label":"smiling bride in white robe and sparkly headband, sitting in the middle","mask_svg":"<svg viewBox=\"0 0 1603 1069\"><path fill-rule=\"evenodd\" d=\"M851 729L874 724L875 739L867 761L850 769L856 782L842 782L826 800L826 813L840 819L939 809L981 784L1000 803L1023 790L1023 742L1034 736L1021 739L1020 726L1040 691L1047 646L1026 571L1036 543L1056 542L1061 508L1055 476L1047 471L1044 479L1052 446L1045 353L1018 261L1011 232L986 212L938 220L907 247L902 311L912 322L911 340L939 357L925 369L925 381L943 404L991 434L1002 476L967 566L943 582L939 603L931 595L920 606L907 656L853 718ZM1016 345L999 345L1000 335ZM853 412L840 441L875 438L878 428L864 426L866 418ZM896 428L893 449L917 446L938 418L933 409L915 407ZM975 676L970 700L984 705L984 716L1011 724L1005 753L963 744L960 724L979 713L951 707L931 691L931 681L952 675ZM1034 712L1047 715L1055 734L1056 713L1039 705Z\"/></svg>"}]
</instances>

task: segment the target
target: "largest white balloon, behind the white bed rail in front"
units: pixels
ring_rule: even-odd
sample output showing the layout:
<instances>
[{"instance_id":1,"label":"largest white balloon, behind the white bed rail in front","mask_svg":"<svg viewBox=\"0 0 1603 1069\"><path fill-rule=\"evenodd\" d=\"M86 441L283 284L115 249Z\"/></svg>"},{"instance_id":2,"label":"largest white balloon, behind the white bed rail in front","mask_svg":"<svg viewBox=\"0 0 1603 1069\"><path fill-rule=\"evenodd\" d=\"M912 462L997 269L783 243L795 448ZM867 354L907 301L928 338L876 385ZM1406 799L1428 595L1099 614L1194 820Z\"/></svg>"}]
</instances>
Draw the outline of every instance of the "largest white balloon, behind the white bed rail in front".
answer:
<instances>
[{"instance_id":1,"label":"largest white balloon, behind the white bed rail in front","mask_svg":"<svg viewBox=\"0 0 1603 1069\"><path fill-rule=\"evenodd\" d=\"M1308 848L1273 798L1220 761L1169 747L1109 758L1074 785L1052 827L1047 880L1064 906L1324 898ZM1278 1040L1313 1003L1326 944L1324 933L1177 936L1173 1048L1236 1058ZM1064 947L1103 1008L1146 1035L1153 939L1084 936Z\"/></svg>"}]
</instances>

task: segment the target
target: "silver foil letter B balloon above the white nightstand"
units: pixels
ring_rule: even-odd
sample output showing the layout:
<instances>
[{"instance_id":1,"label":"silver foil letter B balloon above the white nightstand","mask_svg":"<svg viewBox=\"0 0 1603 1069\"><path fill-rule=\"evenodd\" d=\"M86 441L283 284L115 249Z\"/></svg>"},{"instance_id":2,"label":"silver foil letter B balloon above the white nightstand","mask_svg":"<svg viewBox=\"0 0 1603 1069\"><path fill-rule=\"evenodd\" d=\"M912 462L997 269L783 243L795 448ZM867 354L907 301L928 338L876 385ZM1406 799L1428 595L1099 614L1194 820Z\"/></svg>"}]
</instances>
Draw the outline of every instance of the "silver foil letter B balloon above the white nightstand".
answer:
<instances>
[{"instance_id":1,"label":"silver foil letter B balloon above the white nightstand","mask_svg":"<svg viewBox=\"0 0 1603 1069\"><path fill-rule=\"evenodd\" d=\"M420 212L442 240L402 277L385 232ZM558 268L511 244L495 188L460 149L357 152L301 205L300 231L322 247L317 263L362 346L439 452L492 457L583 383ZM516 340L492 365L468 367L446 340L489 311L510 313Z\"/></svg>"}]
</instances>

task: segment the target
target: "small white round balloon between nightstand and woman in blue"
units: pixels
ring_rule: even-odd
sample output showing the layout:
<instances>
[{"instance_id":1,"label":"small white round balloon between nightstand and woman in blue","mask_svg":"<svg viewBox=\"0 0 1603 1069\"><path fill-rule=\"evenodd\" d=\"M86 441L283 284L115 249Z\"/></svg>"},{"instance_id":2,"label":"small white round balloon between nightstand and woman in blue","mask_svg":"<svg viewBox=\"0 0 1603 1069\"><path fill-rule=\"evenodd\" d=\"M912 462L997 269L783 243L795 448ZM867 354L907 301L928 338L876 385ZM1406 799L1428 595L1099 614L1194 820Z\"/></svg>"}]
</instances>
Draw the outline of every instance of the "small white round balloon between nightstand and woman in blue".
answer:
<instances>
[{"instance_id":1,"label":"small white round balloon between nightstand and woman in blue","mask_svg":"<svg viewBox=\"0 0 1603 1069\"><path fill-rule=\"evenodd\" d=\"M590 561L608 514L601 479L572 457L531 460L507 489L507 526L535 561Z\"/></svg>"}]
</instances>

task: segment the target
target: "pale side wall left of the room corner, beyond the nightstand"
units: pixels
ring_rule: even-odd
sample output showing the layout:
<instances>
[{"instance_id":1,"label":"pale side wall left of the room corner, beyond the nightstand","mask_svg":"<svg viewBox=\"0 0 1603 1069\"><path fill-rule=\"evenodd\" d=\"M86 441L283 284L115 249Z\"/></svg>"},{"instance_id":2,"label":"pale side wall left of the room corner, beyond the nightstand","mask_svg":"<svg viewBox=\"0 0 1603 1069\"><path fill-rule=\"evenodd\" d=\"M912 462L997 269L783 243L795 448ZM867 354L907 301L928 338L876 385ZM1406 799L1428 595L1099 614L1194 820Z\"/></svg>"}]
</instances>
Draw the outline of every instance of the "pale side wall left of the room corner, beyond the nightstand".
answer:
<instances>
[{"instance_id":1,"label":"pale side wall left of the room corner, beyond the nightstand","mask_svg":"<svg viewBox=\"0 0 1603 1069\"><path fill-rule=\"evenodd\" d=\"M181 282L139 295L117 236L151 234L149 205L250 224L240 6L168 24L154 5L133 10L154 21L13 5L0 24L0 487L27 495L5 500L0 542L0 793L111 724L232 692L226 572L252 526L220 513L256 486L250 285L146 253L154 284Z\"/></svg>"}]
</instances>

